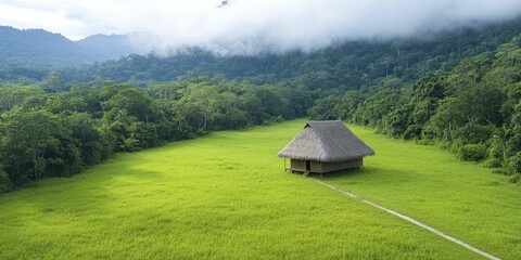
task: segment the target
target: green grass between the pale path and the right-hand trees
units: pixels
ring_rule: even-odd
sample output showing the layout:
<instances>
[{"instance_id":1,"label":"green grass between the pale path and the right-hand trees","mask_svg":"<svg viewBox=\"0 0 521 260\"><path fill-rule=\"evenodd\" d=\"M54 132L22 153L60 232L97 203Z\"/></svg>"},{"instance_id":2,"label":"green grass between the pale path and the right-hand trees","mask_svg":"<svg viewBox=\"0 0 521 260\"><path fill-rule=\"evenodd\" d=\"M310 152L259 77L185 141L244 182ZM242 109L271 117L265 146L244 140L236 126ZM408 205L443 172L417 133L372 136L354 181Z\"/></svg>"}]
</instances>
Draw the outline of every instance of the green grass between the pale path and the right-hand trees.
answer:
<instances>
[{"instance_id":1,"label":"green grass between the pale path and the right-hand trees","mask_svg":"<svg viewBox=\"0 0 521 260\"><path fill-rule=\"evenodd\" d=\"M434 146L350 127L377 151L361 171L330 184L408 214L505 259L521 256L521 188L508 178Z\"/></svg>"}]
</instances>

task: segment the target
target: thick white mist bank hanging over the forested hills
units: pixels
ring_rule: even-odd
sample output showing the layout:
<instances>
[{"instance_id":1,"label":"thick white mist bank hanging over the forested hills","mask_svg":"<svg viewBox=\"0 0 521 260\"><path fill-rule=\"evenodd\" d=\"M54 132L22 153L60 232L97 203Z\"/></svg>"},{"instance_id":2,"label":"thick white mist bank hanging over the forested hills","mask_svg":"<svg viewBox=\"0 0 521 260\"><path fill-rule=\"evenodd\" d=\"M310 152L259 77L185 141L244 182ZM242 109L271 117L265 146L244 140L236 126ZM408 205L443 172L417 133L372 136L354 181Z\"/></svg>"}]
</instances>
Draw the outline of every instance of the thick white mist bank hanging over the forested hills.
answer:
<instances>
[{"instance_id":1,"label":"thick white mist bank hanging over the forested hills","mask_svg":"<svg viewBox=\"0 0 521 260\"><path fill-rule=\"evenodd\" d=\"M411 37L521 14L519 0L230 0L185 8L143 17L136 42L164 55L186 47L220 55L313 51L345 40Z\"/></svg>"}]
</instances>

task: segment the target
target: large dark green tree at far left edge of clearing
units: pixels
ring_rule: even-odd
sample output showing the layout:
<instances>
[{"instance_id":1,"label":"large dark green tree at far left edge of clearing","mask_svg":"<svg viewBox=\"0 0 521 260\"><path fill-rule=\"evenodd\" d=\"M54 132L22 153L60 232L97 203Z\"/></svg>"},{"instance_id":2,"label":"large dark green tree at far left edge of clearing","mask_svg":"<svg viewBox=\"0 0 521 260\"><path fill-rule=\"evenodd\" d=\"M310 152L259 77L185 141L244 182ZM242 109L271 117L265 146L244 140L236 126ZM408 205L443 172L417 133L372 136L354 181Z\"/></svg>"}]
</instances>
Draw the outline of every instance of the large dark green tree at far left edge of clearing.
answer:
<instances>
[{"instance_id":1,"label":"large dark green tree at far left edge of clearing","mask_svg":"<svg viewBox=\"0 0 521 260\"><path fill-rule=\"evenodd\" d=\"M60 118L47 110L2 115L1 162L14 185L79 170L79 156ZM56 169L60 168L60 169Z\"/></svg>"}]
</instances>

